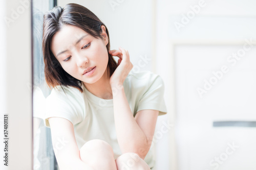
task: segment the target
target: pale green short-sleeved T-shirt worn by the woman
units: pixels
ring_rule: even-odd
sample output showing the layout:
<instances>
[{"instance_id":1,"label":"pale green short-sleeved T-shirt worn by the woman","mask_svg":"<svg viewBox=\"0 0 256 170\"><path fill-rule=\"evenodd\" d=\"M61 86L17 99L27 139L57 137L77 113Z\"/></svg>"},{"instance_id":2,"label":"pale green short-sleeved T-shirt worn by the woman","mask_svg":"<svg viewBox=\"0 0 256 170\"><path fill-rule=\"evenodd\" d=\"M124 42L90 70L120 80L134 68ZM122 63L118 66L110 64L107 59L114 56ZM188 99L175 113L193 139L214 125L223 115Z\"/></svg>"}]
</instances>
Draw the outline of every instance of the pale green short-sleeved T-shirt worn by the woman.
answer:
<instances>
[{"instance_id":1,"label":"pale green short-sleeved T-shirt worn by the woman","mask_svg":"<svg viewBox=\"0 0 256 170\"><path fill-rule=\"evenodd\" d=\"M75 138L80 149L92 139L108 142L114 151L115 159L121 155L115 130L113 99L105 100L87 90L82 83L83 93L74 87L60 86L52 89L46 99L45 125L50 128L49 117L63 117L74 125ZM151 71L130 71L123 82L124 92L135 116L140 110L158 110L159 115L166 114L164 102L164 82L159 75ZM155 157L153 148L144 161L153 167Z\"/></svg>"}]
</instances>

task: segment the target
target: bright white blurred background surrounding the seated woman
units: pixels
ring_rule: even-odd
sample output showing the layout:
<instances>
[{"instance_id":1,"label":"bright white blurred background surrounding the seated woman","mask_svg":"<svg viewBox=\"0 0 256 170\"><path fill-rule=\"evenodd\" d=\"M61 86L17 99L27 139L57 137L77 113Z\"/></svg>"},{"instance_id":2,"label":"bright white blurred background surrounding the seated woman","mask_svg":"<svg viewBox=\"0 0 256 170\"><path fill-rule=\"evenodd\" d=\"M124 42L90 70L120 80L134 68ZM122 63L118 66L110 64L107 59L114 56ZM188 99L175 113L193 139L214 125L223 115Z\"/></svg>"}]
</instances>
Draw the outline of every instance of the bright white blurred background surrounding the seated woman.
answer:
<instances>
[{"instance_id":1,"label":"bright white blurred background surrounding the seated woman","mask_svg":"<svg viewBox=\"0 0 256 170\"><path fill-rule=\"evenodd\" d=\"M163 78L168 113L158 117L153 140L157 170L256 169L255 1L2 3L1 114L10 114L16 138L10 140L9 169L17 169L14 161L22 162L21 169L58 169L50 129L42 122L51 91L41 53L42 17L68 3L87 7L103 21L111 50L126 48L135 71Z\"/></svg>"}]
</instances>

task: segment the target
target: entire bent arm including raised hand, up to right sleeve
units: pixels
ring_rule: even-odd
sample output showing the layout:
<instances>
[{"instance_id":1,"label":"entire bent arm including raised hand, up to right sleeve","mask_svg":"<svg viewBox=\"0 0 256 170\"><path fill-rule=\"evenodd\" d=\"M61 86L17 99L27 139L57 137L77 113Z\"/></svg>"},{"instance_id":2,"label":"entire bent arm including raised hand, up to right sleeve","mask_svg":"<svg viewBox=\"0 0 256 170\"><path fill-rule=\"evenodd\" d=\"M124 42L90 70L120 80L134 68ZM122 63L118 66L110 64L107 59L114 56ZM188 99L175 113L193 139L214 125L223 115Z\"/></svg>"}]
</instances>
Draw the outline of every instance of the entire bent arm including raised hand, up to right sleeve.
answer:
<instances>
[{"instance_id":1,"label":"entire bent arm including raised hand, up to right sleeve","mask_svg":"<svg viewBox=\"0 0 256 170\"><path fill-rule=\"evenodd\" d=\"M110 78L117 140L122 153L134 152L144 159L151 147L158 111L141 110L135 120L123 89L123 82L133 68L129 52L119 47L109 53L119 57Z\"/></svg>"}]
</instances>

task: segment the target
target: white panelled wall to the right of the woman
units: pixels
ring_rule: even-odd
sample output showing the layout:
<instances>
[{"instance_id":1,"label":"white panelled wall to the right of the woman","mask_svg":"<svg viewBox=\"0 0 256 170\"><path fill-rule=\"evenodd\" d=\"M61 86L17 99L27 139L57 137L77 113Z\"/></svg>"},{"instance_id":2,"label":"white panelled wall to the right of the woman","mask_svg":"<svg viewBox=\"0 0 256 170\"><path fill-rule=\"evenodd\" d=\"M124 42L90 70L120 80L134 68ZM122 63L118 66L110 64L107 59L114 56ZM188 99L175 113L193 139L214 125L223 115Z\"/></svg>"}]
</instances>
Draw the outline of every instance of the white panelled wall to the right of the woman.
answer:
<instances>
[{"instance_id":1,"label":"white panelled wall to the right of the woman","mask_svg":"<svg viewBox=\"0 0 256 170\"><path fill-rule=\"evenodd\" d=\"M200 2L204 7L193 16L190 6ZM218 120L256 120L255 6L252 0L157 1L156 53L164 61L157 68L170 73L163 78L171 94L169 118L175 122L169 169L255 169L255 128L212 127ZM182 24L179 29L177 22ZM244 49L245 39L254 41L253 48L231 65L228 57ZM197 89L223 65L229 71L200 98ZM224 159L232 142L239 149L221 163L215 161Z\"/></svg>"}]
</instances>

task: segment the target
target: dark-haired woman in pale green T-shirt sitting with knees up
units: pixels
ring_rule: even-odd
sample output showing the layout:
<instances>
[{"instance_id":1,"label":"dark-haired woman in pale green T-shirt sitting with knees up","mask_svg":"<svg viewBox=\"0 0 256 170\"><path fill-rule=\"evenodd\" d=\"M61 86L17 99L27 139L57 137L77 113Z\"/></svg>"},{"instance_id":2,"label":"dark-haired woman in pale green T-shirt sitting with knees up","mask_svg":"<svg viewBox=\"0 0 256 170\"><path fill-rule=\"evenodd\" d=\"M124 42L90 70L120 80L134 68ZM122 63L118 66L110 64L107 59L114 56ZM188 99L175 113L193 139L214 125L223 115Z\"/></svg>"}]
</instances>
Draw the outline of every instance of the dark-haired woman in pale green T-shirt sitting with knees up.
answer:
<instances>
[{"instance_id":1,"label":"dark-haired woman in pale green T-shirt sitting with knees up","mask_svg":"<svg viewBox=\"0 0 256 170\"><path fill-rule=\"evenodd\" d=\"M106 26L78 4L44 15L42 50L60 169L153 169L157 116L167 112L161 77L133 73L128 51L110 51Z\"/></svg>"}]
</instances>

